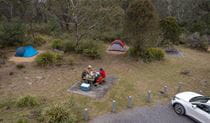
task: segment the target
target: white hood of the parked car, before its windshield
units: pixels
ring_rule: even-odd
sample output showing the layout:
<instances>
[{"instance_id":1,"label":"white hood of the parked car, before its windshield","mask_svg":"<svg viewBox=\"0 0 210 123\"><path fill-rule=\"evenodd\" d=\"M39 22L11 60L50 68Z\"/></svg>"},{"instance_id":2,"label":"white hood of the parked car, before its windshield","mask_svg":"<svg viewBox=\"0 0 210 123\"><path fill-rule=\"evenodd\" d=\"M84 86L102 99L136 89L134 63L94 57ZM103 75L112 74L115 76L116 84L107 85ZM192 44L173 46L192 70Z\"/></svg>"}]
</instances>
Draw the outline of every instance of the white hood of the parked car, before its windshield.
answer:
<instances>
[{"instance_id":1,"label":"white hood of the parked car, before its windshield","mask_svg":"<svg viewBox=\"0 0 210 123\"><path fill-rule=\"evenodd\" d=\"M193 97L197 97L197 96L202 96L202 95L198 93L194 93L194 92L182 92L176 95L176 97L178 97L179 99L182 99L187 102L189 102L190 99L192 99Z\"/></svg>"}]
</instances>

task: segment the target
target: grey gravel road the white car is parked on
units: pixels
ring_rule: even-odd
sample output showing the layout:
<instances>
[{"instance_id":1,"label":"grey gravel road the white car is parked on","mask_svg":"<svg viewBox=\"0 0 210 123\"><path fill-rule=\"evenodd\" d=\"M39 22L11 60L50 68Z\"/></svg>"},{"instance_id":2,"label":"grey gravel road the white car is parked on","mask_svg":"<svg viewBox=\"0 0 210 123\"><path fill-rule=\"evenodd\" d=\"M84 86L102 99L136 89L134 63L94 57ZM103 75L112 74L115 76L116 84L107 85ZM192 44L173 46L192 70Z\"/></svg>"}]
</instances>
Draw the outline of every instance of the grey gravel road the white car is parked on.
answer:
<instances>
[{"instance_id":1,"label":"grey gravel road the white car is parked on","mask_svg":"<svg viewBox=\"0 0 210 123\"><path fill-rule=\"evenodd\" d=\"M195 123L195 121L178 116L170 105L156 105L106 114L93 119L90 123Z\"/></svg>"}]
</instances>

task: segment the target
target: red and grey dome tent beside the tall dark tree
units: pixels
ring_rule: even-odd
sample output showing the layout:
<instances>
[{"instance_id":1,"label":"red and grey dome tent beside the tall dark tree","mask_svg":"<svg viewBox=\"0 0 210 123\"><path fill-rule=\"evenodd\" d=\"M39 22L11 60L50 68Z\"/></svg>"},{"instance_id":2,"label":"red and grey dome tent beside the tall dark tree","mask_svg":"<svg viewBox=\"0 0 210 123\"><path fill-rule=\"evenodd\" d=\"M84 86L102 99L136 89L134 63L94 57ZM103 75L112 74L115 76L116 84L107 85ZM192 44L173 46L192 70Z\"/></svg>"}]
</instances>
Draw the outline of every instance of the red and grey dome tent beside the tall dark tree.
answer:
<instances>
[{"instance_id":1,"label":"red and grey dome tent beside the tall dark tree","mask_svg":"<svg viewBox=\"0 0 210 123\"><path fill-rule=\"evenodd\" d=\"M122 40L115 40L112 42L109 51L126 52L125 42Z\"/></svg>"}]
</instances>

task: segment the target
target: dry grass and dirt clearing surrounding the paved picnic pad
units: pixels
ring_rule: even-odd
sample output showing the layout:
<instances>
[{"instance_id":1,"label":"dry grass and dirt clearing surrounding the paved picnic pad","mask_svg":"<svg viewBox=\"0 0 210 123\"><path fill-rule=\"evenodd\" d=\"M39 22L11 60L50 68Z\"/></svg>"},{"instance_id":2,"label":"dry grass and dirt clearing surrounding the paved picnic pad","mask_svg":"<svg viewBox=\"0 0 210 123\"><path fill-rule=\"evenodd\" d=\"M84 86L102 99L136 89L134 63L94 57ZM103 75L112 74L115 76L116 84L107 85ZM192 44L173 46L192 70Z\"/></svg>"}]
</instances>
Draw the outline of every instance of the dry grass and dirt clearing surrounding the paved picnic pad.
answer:
<instances>
[{"instance_id":1,"label":"dry grass and dirt clearing surrounding the paved picnic pad","mask_svg":"<svg viewBox=\"0 0 210 123\"><path fill-rule=\"evenodd\" d=\"M154 103L164 100L159 91L164 85L169 87L170 96L176 92L178 82L183 82L183 90L202 92L210 95L210 54L187 48L179 48L184 57L166 56L161 62L150 64L128 59L124 55L103 56L101 60L89 60L75 56L76 65L39 68L35 63L24 63L25 68L18 70L13 62L0 68L0 99L17 98L23 95L44 97L47 105L62 103L74 96L76 101L91 109L91 117L110 111L111 101L118 103L118 111L126 108L126 99L132 95L134 105L146 104L145 94L152 90ZM80 79L81 71L92 65L96 69L103 67L109 75L119 78L119 82L109 90L103 99L95 100L67 92ZM180 72L188 70L189 75ZM167 98L168 99L168 98ZM0 118L15 119L18 111L0 112Z\"/></svg>"}]
</instances>

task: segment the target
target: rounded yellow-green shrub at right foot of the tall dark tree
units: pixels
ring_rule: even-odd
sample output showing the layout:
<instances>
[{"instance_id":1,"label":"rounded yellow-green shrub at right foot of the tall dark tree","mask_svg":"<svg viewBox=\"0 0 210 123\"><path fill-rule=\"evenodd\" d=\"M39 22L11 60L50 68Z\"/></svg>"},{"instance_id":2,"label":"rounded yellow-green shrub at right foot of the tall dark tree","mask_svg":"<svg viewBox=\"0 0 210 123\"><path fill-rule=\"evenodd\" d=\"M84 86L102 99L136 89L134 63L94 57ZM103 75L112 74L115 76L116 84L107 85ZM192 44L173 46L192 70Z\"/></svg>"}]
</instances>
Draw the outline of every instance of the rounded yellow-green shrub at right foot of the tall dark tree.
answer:
<instances>
[{"instance_id":1,"label":"rounded yellow-green shrub at right foot of the tall dark tree","mask_svg":"<svg viewBox=\"0 0 210 123\"><path fill-rule=\"evenodd\" d=\"M142 58L145 62L151 62L163 60L164 56L163 50L159 48L149 48L145 51L145 54L142 55Z\"/></svg>"}]
</instances>

